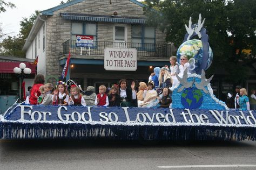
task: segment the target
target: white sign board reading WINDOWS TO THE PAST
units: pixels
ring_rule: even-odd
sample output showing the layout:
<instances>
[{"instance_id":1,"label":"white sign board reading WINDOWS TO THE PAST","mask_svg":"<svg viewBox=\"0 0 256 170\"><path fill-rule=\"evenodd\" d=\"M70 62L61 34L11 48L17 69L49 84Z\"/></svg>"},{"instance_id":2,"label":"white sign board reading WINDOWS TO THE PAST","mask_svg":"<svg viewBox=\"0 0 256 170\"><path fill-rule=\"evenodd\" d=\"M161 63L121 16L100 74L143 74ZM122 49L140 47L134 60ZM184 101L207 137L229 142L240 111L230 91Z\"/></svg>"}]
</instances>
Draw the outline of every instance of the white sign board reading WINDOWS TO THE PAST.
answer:
<instances>
[{"instance_id":1,"label":"white sign board reading WINDOWS TO THE PAST","mask_svg":"<svg viewBox=\"0 0 256 170\"><path fill-rule=\"evenodd\" d=\"M136 48L105 48L105 70L135 71L137 70Z\"/></svg>"}]
</instances>

